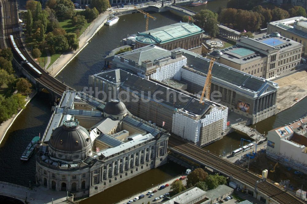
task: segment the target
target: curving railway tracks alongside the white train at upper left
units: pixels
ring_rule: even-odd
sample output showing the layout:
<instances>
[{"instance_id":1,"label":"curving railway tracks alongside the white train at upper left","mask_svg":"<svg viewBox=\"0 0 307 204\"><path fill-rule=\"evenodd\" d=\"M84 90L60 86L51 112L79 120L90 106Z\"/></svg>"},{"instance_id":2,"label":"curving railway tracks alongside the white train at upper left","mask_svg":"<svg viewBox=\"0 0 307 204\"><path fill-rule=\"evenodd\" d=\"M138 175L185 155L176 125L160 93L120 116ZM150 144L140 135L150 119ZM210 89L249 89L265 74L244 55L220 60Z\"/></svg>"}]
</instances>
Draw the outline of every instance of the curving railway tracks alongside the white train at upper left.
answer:
<instances>
[{"instance_id":1,"label":"curving railway tracks alongside the white train at upper left","mask_svg":"<svg viewBox=\"0 0 307 204\"><path fill-rule=\"evenodd\" d=\"M21 53L25 56L27 61L29 61L36 69L38 69L41 73L41 77L37 77L34 74L31 74L32 77L34 77L40 84L45 86L46 88L50 89L51 91L55 92L59 96L63 94L66 90L73 90L71 87L66 86L64 83L60 82L56 78L50 76L44 69L42 69L36 61L32 58L31 55L26 51L26 48L24 44L21 41L20 33L19 31L14 31L14 28L19 27L19 19L18 19L18 10L17 10L17 4L16 1L11 0L2 0L2 6L3 6L3 16L4 16L4 30L5 30L5 41L7 46L11 46L10 43L10 35L14 36L14 40L18 48L20 49ZM9 17L9 18L8 18ZM14 54L14 59L20 63L21 58L18 55L18 53L14 52L14 48L11 47L11 50ZM23 68L28 73L33 73L32 70L26 65L22 65Z\"/></svg>"}]
</instances>

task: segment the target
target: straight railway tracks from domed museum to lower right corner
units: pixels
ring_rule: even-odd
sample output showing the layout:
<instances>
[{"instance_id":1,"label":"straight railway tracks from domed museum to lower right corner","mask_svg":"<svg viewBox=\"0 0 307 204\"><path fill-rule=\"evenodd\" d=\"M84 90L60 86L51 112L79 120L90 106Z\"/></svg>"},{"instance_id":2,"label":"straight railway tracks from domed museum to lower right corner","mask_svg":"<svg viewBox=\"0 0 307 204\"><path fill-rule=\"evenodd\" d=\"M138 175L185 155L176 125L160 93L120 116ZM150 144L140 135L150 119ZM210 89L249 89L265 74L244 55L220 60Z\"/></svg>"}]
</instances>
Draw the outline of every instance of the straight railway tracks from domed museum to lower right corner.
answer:
<instances>
[{"instance_id":1,"label":"straight railway tracks from domed museum to lower right corner","mask_svg":"<svg viewBox=\"0 0 307 204\"><path fill-rule=\"evenodd\" d=\"M227 160L222 159L216 155L208 153L204 149L196 147L191 143L178 140L173 136L169 137L168 146L170 148L175 149L178 152L181 152L184 155L188 155L191 158L194 158L201 163L204 163L216 170L219 170L220 172L222 172L227 176L232 176L235 179L245 182L247 185L251 186L252 188L255 188L256 181L260 179L258 176L254 175L253 173L247 171L242 167L230 163ZM279 202L281 204L306 203L267 181L258 183L257 189L262 194L266 194L267 197L272 198L272 200Z\"/></svg>"}]
</instances>

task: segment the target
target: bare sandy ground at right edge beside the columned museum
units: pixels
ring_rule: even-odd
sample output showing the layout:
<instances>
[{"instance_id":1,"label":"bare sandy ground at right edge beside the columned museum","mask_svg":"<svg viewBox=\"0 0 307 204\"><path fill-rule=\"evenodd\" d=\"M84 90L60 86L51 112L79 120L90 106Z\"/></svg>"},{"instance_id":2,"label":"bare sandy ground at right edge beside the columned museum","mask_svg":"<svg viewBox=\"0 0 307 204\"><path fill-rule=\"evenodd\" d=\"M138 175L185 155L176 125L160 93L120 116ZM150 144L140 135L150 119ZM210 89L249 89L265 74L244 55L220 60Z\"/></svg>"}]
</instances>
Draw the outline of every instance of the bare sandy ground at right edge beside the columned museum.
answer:
<instances>
[{"instance_id":1,"label":"bare sandy ground at right edge beside the columned museum","mask_svg":"<svg viewBox=\"0 0 307 204\"><path fill-rule=\"evenodd\" d=\"M275 80L278 83L277 109L282 110L292 105L295 98L301 99L307 94L307 71L303 70L290 76Z\"/></svg>"}]
</instances>

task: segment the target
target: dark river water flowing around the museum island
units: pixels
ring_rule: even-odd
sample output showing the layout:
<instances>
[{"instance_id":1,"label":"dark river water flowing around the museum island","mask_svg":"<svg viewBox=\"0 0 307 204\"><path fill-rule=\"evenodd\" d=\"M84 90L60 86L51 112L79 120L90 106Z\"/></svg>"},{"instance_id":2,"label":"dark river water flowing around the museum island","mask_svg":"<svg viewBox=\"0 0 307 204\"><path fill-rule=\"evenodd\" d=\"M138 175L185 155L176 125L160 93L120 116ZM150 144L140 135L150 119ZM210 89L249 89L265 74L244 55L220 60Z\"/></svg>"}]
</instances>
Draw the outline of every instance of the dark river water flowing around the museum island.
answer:
<instances>
[{"instance_id":1,"label":"dark river water flowing around the museum island","mask_svg":"<svg viewBox=\"0 0 307 204\"><path fill-rule=\"evenodd\" d=\"M199 11L201 9L210 9L217 11L220 6L226 6L227 0L217 0L208 2L208 4L198 7L188 7L189 9ZM171 13L164 12L160 14L151 13L157 18L156 21L149 20L149 29L169 25L181 20L181 17ZM111 27L103 26L99 34L96 34L91 43L87 45L77 57L58 75L58 79L64 80L66 84L83 90L87 86L88 76L99 73L104 66L104 57L118 45L121 45L122 38L129 34L142 32L145 30L145 19L140 13L122 16L119 22ZM307 107L307 99L300 101L293 108L272 116L256 124L256 129L260 132L268 131L283 124L287 124L302 117ZM49 97L45 93L39 93L31 100L25 110L18 116L14 124L8 131L6 138L0 146L0 180L12 182L23 186L28 186L29 181L34 182L35 159L32 157L28 162L21 162L20 156L31 139L43 134L45 127L51 116L51 106ZM240 139L248 139L246 135L233 132L223 139L210 144L205 149L222 154L223 151L229 152L238 147ZM84 200L82 203L97 203L103 199L104 203L112 203L122 198L136 193L151 186L151 184L160 183L175 175L181 174L183 168L168 163L160 168L147 171L131 180L122 182L106 191ZM140 182L141 181L141 182ZM119 192L121 192L119 194Z\"/></svg>"}]
</instances>

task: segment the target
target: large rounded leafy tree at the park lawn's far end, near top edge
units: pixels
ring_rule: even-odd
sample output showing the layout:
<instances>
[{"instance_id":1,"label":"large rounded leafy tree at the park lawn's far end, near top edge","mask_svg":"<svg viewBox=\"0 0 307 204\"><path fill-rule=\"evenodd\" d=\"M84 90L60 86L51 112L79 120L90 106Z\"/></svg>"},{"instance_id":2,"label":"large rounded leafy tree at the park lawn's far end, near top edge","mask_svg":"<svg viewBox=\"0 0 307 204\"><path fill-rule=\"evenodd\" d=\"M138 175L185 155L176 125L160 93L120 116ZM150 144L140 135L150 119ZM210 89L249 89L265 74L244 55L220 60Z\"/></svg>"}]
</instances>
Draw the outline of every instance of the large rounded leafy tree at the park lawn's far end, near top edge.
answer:
<instances>
[{"instance_id":1,"label":"large rounded leafy tree at the park lawn's far end, near top edge","mask_svg":"<svg viewBox=\"0 0 307 204\"><path fill-rule=\"evenodd\" d=\"M71 0L56 0L53 10L55 10L57 17L64 19L70 19L76 14L75 6Z\"/></svg>"}]
</instances>

